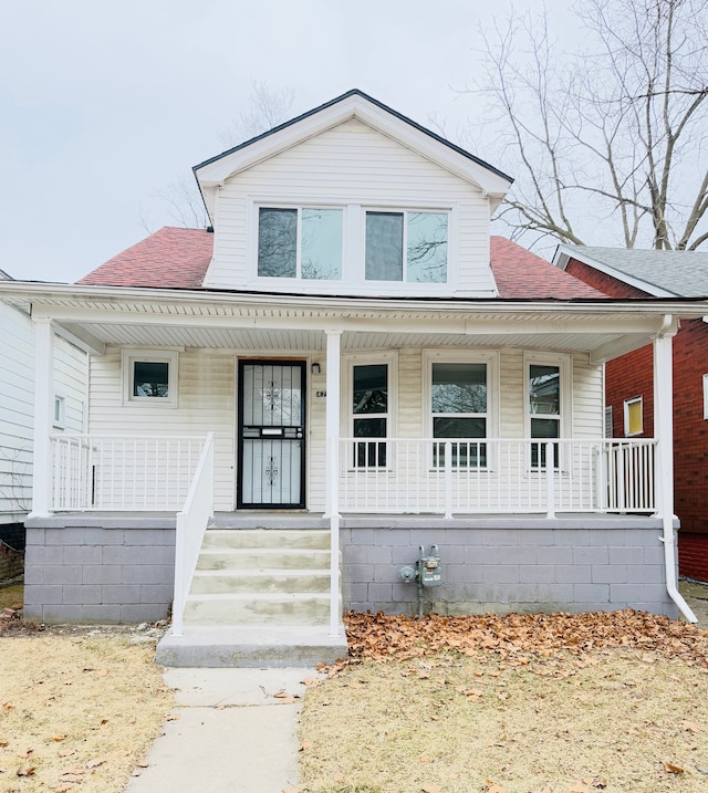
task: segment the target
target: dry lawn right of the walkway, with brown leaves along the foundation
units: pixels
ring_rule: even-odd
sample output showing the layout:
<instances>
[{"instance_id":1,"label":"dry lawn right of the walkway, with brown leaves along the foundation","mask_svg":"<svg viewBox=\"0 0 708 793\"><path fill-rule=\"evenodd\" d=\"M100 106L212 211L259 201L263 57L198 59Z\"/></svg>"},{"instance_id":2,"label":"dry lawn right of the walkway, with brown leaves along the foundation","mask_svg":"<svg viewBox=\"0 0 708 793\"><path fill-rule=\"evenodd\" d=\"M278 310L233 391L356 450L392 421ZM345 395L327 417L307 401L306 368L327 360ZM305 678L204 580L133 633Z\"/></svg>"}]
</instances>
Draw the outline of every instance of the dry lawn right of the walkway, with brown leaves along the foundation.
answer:
<instances>
[{"instance_id":1,"label":"dry lawn right of the walkway, with brown leaves along the foundation","mask_svg":"<svg viewBox=\"0 0 708 793\"><path fill-rule=\"evenodd\" d=\"M348 615L301 793L705 793L708 633L637 612Z\"/></svg>"}]
</instances>

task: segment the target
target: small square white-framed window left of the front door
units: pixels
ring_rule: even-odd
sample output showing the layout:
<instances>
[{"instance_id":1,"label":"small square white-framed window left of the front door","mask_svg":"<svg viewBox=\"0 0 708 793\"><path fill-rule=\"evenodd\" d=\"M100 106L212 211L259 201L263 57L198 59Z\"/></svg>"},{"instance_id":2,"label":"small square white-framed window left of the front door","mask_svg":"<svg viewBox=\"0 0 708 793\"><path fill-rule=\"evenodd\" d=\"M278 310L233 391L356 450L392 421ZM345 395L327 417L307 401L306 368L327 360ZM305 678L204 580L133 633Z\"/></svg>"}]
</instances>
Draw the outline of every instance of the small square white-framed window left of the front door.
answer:
<instances>
[{"instance_id":1,"label":"small square white-framed window left of the front door","mask_svg":"<svg viewBox=\"0 0 708 793\"><path fill-rule=\"evenodd\" d=\"M123 353L124 403L177 404L177 353Z\"/></svg>"}]
</instances>

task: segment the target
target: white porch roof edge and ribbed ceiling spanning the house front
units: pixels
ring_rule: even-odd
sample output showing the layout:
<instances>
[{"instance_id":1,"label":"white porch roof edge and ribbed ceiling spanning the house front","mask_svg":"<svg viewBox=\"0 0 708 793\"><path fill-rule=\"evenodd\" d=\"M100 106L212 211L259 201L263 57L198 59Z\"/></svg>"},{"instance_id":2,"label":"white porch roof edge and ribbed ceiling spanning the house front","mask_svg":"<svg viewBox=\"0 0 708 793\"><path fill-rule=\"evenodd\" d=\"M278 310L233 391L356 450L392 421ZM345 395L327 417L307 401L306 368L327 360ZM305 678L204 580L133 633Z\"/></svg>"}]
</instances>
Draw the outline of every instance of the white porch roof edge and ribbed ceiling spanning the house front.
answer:
<instances>
[{"instance_id":1,"label":"white porch roof edge and ribbed ceiling spanning the house front","mask_svg":"<svg viewBox=\"0 0 708 793\"><path fill-rule=\"evenodd\" d=\"M436 300L269 295L207 290L0 282L0 300L102 354L106 344L317 353L325 331L343 349L531 347L594 362L673 334L706 300Z\"/></svg>"}]
</instances>

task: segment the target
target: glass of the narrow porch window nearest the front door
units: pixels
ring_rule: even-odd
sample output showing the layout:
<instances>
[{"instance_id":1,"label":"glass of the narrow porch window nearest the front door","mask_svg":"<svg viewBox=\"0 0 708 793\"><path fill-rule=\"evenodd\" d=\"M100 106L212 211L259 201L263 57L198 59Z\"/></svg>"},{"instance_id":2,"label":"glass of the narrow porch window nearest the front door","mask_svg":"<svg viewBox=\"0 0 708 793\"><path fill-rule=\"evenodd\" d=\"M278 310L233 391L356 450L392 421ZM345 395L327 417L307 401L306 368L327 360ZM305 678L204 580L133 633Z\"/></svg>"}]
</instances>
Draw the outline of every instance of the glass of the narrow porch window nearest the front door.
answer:
<instances>
[{"instance_id":1,"label":"glass of the narrow porch window nearest the front door","mask_svg":"<svg viewBox=\"0 0 708 793\"><path fill-rule=\"evenodd\" d=\"M354 438L386 438L389 421L388 364L354 366L352 371L352 420ZM354 444L355 468L386 466L386 444L381 440Z\"/></svg>"}]
</instances>

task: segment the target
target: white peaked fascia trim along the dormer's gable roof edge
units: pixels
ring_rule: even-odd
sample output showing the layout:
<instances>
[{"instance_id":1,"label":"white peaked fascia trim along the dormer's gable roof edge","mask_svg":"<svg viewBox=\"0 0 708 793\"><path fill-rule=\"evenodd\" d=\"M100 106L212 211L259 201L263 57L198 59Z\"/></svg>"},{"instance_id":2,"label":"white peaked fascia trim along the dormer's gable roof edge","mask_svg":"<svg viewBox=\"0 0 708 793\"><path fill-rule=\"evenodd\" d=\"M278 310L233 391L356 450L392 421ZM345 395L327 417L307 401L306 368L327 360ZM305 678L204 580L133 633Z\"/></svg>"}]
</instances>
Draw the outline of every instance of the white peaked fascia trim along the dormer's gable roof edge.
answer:
<instances>
[{"instance_id":1,"label":"white peaked fascia trim along the dormer's gable roof edge","mask_svg":"<svg viewBox=\"0 0 708 793\"><path fill-rule=\"evenodd\" d=\"M350 118L358 118L423 157L477 185L490 198L501 200L511 182L469 157L456 152L416 127L354 95L325 107L279 132L266 135L201 168L195 169L204 188L217 188L226 179L314 137Z\"/></svg>"}]
</instances>

